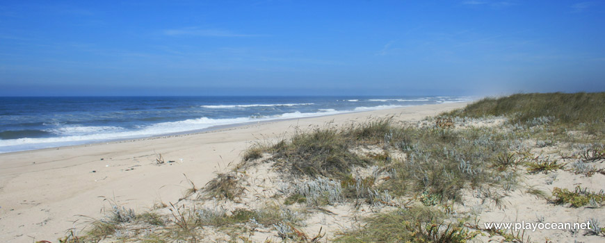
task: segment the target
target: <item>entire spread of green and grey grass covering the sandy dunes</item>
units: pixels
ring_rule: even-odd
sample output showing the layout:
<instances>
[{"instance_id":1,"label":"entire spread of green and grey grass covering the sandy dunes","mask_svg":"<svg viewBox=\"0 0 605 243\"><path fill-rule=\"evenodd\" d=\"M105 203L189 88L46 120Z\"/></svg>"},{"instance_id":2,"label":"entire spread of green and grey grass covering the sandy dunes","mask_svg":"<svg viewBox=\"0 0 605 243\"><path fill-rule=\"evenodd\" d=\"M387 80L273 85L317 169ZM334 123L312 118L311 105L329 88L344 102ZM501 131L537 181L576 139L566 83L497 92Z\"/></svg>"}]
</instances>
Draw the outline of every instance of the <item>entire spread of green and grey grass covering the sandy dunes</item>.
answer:
<instances>
[{"instance_id":1,"label":"entire spread of green and grey grass covering the sandy dunes","mask_svg":"<svg viewBox=\"0 0 605 243\"><path fill-rule=\"evenodd\" d=\"M272 197L285 206L227 210L221 206L171 205L168 219L166 215L135 214L114 206L108 217L90 224L86 235L75 237L72 233L65 242L119 238L115 235L127 224L161 228L141 242L197 242L204 237L200 230L209 227L226 233L232 240L248 233L250 227L259 227L284 242L313 242L300 231L307 210L339 203L350 203L355 208L364 203L370 207L389 206L392 210L374 212L362 219L364 224L337 235L332 239L335 242L467 242L478 235L474 230L479 228L468 224L469 215L452 214L455 203L465 203L465 192L480 198L481 205L487 202L501 207L505 195L520 187L517 181L522 180L522 174L566 169L567 163L560 162L563 156L561 160L535 156L530 149L560 146L563 140L573 137L567 131L580 131L588 138L580 141L581 152L567 156L578 160L570 163L572 171L586 176L604 173L587 164L602 160L605 155L604 105L605 93L514 94L482 99L419 124L396 123L386 117L298 130L276 144L251 146L234 171L218 174L200 190L198 195L204 196L197 197L240 203L241 196L248 193L241 176L262 158L273 162L282 176L296 179L295 185L289 185L289 192ZM466 118L456 118L474 117L481 121L492 116L507 120L503 126L486 127L474 126L475 121L466 126ZM533 142L523 145L527 138ZM360 174L360 169L366 172ZM191 194L197 193L193 182L191 185ZM605 203L604 192L580 187L573 192L556 187L554 199L534 187L525 188L524 192L558 204L569 203L574 208L598 208ZM401 205L393 199L406 199L412 204ZM519 241L519 235L499 235ZM319 236L321 233L315 239Z\"/></svg>"}]
</instances>

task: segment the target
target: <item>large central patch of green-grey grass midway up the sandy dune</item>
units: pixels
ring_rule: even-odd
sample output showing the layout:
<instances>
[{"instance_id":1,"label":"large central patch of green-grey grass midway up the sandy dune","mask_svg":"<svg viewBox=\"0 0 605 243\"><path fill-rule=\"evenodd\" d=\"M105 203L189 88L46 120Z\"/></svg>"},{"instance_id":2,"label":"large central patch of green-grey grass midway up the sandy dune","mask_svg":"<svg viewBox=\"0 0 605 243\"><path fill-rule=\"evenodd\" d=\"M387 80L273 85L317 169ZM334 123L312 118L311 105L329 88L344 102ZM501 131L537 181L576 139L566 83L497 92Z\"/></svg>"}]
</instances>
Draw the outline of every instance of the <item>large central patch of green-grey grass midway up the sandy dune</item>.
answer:
<instances>
[{"instance_id":1,"label":"large central patch of green-grey grass midway up the sandy dune","mask_svg":"<svg viewBox=\"0 0 605 243\"><path fill-rule=\"evenodd\" d=\"M501 157L513 154L508 146L513 139L515 137L493 129L457 131L449 126L416 127L395 124L391 118L385 118L344 128L315 128L266 146L264 151L256 146L250 153L272 153L271 159L277 161L277 166L294 176L341 181L343 194L348 199L375 202L380 193L387 192L396 196L425 194L442 203L460 200L461 190L468 187L512 187L509 184L515 183L515 176L508 173L508 169L516 166L515 159ZM355 153L355 149L367 146L376 146L385 152L366 156ZM392 160L389 150L405 153L405 160ZM378 185L379 178L354 178L351 174L353 167L369 166L387 171L385 176L389 179ZM491 196L496 201L499 198L495 194ZM290 195L287 201L296 203L303 197L309 200L309 195L298 194Z\"/></svg>"}]
</instances>

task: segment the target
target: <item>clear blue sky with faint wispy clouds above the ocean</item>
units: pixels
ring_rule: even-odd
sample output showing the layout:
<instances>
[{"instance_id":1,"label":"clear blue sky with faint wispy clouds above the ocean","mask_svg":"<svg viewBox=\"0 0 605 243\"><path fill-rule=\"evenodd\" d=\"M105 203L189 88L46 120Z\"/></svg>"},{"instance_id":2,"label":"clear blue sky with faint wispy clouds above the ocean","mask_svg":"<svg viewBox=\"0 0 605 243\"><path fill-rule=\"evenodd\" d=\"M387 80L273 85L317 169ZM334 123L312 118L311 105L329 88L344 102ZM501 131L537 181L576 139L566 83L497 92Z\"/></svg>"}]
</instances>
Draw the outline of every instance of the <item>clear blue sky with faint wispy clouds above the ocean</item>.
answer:
<instances>
[{"instance_id":1,"label":"clear blue sky with faint wispy clouds above the ocean","mask_svg":"<svg viewBox=\"0 0 605 243\"><path fill-rule=\"evenodd\" d=\"M605 91L605 1L3 1L0 96Z\"/></svg>"}]
</instances>

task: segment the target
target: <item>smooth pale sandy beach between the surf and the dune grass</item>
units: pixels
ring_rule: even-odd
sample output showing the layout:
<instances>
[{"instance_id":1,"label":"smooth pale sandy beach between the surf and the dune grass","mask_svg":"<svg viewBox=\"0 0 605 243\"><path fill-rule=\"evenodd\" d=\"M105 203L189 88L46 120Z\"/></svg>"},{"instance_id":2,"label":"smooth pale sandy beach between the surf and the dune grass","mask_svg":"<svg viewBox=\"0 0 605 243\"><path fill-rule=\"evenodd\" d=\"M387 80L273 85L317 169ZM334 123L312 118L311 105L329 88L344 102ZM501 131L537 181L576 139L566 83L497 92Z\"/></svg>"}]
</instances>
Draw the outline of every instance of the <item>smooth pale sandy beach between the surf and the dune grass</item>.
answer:
<instances>
[{"instance_id":1,"label":"smooth pale sandy beach between the surf and the dune grass","mask_svg":"<svg viewBox=\"0 0 605 243\"><path fill-rule=\"evenodd\" d=\"M0 154L0 242L55 241L74 221L86 215L101 217L115 198L122 205L143 210L154 202L175 202L188 184L198 187L213 178L214 171L239 162L252 142L282 137L295 127L343 125L368 117L396 115L419 120L466 103L414 106L327 117L250 124L220 131L111 142L59 149ZM156 154L175 162L156 165ZM92 172L95 171L95 172Z\"/></svg>"}]
</instances>

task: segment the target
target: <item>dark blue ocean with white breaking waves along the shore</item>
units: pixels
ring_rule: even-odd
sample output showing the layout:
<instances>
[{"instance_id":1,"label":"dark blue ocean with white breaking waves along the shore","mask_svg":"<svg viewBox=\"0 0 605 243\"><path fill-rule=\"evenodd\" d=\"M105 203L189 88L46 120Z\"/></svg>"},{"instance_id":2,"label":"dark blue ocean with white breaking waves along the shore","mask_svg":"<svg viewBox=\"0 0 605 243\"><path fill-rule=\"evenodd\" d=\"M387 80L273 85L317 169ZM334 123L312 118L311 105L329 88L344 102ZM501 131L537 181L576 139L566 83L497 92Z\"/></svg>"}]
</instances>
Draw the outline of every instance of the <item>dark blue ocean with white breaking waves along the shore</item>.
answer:
<instances>
[{"instance_id":1,"label":"dark blue ocean with white breaking waves along the shore","mask_svg":"<svg viewBox=\"0 0 605 243\"><path fill-rule=\"evenodd\" d=\"M0 153L472 97L0 97Z\"/></svg>"}]
</instances>

